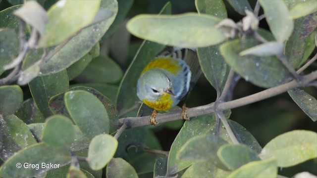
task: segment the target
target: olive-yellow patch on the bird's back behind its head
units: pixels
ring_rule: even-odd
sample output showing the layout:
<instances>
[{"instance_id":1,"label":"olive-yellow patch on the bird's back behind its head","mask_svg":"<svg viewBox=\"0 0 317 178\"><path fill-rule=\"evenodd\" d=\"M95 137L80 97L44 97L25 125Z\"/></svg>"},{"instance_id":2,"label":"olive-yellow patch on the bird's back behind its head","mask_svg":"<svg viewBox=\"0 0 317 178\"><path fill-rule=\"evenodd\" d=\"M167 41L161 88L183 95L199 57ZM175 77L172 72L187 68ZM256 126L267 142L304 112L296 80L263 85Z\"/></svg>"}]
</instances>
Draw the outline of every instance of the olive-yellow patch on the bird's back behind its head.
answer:
<instances>
[{"instance_id":1,"label":"olive-yellow patch on the bird's back behind its head","mask_svg":"<svg viewBox=\"0 0 317 178\"><path fill-rule=\"evenodd\" d=\"M146 65L141 74L143 74L144 72L150 69L157 68L157 67L165 69L174 75L176 75L179 72L179 70L181 70L181 66L179 65L177 59L173 59L171 57L157 58L151 61L148 65Z\"/></svg>"}]
</instances>

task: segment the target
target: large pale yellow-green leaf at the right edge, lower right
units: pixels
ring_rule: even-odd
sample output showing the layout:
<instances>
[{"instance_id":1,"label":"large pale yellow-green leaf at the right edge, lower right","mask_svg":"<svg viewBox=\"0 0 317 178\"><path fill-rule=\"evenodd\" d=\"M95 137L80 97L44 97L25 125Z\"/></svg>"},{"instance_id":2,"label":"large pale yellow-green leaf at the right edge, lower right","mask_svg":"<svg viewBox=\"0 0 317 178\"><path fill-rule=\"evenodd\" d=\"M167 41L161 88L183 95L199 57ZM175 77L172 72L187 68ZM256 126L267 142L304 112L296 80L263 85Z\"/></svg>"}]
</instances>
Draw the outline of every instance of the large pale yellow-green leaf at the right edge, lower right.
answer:
<instances>
[{"instance_id":1,"label":"large pale yellow-green leaf at the right edge, lower right","mask_svg":"<svg viewBox=\"0 0 317 178\"><path fill-rule=\"evenodd\" d=\"M259 155L262 159L277 159L277 166L290 167L317 157L317 133L291 131L269 141Z\"/></svg>"}]
</instances>

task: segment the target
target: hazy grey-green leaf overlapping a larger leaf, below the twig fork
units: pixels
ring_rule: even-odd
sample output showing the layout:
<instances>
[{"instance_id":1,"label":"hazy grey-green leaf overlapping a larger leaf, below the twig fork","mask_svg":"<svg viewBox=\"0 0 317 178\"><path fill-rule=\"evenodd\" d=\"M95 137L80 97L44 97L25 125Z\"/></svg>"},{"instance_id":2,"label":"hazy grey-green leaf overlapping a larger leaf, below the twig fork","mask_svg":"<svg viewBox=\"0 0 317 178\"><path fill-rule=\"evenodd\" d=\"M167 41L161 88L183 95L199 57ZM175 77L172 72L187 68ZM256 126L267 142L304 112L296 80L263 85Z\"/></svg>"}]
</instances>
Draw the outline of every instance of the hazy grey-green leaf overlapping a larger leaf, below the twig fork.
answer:
<instances>
[{"instance_id":1,"label":"hazy grey-green leaf overlapping a larger leaf, below the twig fork","mask_svg":"<svg viewBox=\"0 0 317 178\"><path fill-rule=\"evenodd\" d=\"M212 162L217 167L225 170L226 167L217 157L217 150L227 142L214 133L197 135L190 138L176 154L178 160L190 160L197 163L201 161Z\"/></svg>"}]
</instances>

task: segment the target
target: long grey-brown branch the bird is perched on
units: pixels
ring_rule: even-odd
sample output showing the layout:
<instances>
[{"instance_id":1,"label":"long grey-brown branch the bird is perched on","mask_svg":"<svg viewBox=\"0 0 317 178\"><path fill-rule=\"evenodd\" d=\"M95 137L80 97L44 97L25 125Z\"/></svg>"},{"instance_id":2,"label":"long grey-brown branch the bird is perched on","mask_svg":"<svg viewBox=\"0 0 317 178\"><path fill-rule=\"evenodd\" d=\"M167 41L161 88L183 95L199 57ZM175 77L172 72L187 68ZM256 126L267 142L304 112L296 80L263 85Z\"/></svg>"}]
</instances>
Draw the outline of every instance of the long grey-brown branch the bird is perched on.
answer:
<instances>
[{"instance_id":1,"label":"long grey-brown branch the bird is perched on","mask_svg":"<svg viewBox=\"0 0 317 178\"><path fill-rule=\"evenodd\" d=\"M317 79L317 71L314 71L308 75L303 76L301 82L292 80L288 83L285 83L270 89L265 89L263 91L260 91L258 93L255 93L246 97L219 103L217 106L217 109L219 110L233 109L233 108L237 108L237 107L251 104L254 102L258 102L258 101L270 98L272 96L281 94L283 92L286 92L290 89L309 86L310 82L316 79ZM195 116L210 114L210 113L214 113L214 103L187 109L187 116L190 118ZM150 116L127 117L127 118L119 119L119 122L121 122L122 124L125 123L128 128L135 128L135 127L149 125L149 118ZM175 121L180 119L181 119L181 112L177 112L177 111L170 112L170 113L162 113L156 116L156 120L159 123L170 122L170 121Z\"/></svg>"}]
</instances>

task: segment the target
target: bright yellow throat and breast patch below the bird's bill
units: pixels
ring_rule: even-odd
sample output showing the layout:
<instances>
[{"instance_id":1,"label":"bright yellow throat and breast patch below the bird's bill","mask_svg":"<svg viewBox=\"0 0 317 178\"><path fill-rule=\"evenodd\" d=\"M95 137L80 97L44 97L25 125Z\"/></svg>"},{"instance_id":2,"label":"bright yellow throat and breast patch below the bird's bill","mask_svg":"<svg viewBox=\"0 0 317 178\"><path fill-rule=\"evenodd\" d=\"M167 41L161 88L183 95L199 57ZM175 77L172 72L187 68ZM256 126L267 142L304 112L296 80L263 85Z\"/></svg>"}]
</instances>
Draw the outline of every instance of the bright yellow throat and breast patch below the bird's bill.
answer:
<instances>
[{"instance_id":1,"label":"bright yellow throat and breast patch below the bird's bill","mask_svg":"<svg viewBox=\"0 0 317 178\"><path fill-rule=\"evenodd\" d=\"M166 93L166 94L163 94L157 101L152 102L152 101L143 99L143 102L155 110L166 111L170 109L170 107L173 104L173 99L170 97L172 96Z\"/></svg>"}]
</instances>

